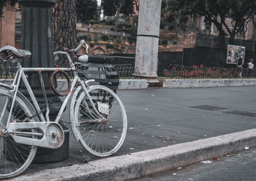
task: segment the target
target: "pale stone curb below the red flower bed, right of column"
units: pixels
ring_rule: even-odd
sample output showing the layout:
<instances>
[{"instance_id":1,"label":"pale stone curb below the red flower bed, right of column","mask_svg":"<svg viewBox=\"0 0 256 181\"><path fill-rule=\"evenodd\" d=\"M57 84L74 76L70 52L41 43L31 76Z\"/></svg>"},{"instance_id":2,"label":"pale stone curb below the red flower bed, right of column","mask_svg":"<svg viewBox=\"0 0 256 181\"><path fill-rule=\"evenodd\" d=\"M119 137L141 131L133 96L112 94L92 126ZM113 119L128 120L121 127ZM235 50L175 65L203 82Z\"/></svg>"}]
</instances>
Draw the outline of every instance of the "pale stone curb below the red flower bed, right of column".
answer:
<instances>
[{"instance_id":1,"label":"pale stone curb below the red flower bed, right of column","mask_svg":"<svg viewBox=\"0 0 256 181\"><path fill-rule=\"evenodd\" d=\"M166 79L163 88L256 86L256 79Z\"/></svg>"}]
</instances>

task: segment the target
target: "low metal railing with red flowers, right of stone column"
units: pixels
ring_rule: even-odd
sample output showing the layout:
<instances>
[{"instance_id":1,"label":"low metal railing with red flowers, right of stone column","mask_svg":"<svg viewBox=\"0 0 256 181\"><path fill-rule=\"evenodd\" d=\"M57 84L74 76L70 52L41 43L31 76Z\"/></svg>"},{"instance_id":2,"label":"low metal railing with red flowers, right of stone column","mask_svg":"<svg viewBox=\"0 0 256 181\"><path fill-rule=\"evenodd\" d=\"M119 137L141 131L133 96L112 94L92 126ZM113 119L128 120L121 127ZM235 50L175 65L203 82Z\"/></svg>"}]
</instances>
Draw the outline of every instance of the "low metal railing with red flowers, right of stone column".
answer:
<instances>
[{"instance_id":1,"label":"low metal railing with red flowers, right of stone column","mask_svg":"<svg viewBox=\"0 0 256 181\"><path fill-rule=\"evenodd\" d=\"M224 68L170 65L162 72L157 72L158 77L170 77L171 79L241 79L256 78L256 70L249 68Z\"/></svg>"}]
</instances>

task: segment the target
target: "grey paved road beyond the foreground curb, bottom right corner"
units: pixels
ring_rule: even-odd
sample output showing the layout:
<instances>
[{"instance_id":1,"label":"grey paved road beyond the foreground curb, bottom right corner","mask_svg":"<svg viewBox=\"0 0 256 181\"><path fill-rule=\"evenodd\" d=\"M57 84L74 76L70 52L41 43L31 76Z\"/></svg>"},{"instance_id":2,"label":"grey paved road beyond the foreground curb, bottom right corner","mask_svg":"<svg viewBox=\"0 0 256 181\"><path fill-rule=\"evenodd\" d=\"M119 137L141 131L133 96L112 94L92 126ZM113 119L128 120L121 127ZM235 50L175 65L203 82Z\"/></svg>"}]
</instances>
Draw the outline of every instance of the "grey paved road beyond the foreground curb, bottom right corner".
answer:
<instances>
[{"instance_id":1,"label":"grey paved road beyond the foreground curb, bottom right corner","mask_svg":"<svg viewBox=\"0 0 256 181\"><path fill-rule=\"evenodd\" d=\"M147 177L146 180L256 180L256 148L232 153L210 160L209 164L198 162L184 168L164 171Z\"/></svg>"}]
</instances>

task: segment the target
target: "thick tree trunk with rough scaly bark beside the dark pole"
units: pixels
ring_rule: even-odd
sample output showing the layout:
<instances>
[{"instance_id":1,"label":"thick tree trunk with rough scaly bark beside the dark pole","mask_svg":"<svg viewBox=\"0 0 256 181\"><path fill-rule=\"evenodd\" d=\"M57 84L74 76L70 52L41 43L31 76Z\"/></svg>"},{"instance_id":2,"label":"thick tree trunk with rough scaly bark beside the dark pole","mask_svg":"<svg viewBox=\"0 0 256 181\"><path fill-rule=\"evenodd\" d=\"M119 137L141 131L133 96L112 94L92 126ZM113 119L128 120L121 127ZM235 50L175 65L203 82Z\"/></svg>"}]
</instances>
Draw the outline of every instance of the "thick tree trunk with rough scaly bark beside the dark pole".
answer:
<instances>
[{"instance_id":1,"label":"thick tree trunk with rough scaly bark beside the dark pole","mask_svg":"<svg viewBox=\"0 0 256 181\"><path fill-rule=\"evenodd\" d=\"M56 0L52 8L53 49L73 49L76 40L76 4L74 0Z\"/></svg>"}]
</instances>

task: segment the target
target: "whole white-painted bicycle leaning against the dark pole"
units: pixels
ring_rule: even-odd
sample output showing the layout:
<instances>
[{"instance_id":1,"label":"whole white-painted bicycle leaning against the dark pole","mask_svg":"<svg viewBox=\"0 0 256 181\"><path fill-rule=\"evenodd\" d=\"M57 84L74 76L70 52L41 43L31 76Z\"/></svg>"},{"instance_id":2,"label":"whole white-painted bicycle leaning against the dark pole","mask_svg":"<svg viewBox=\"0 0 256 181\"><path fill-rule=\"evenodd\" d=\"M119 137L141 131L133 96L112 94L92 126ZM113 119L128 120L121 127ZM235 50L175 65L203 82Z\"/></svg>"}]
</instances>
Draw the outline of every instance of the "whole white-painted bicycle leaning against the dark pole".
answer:
<instances>
[{"instance_id":1,"label":"whole white-painted bicycle leaning against the dark pole","mask_svg":"<svg viewBox=\"0 0 256 181\"><path fill-rule=\"evenodd\" d=\"M106 157L115 153L124 143L127 132L127 116L120 98L105 86L90 86L93 80L81 81L77 76L76 63L70 55L74 55L83 45L82 40L74 50L54 52L54 56L67 56L68 68L22 68L19 60L31 55L31 52L18 50L15 47L4 46L0 49L0 58L11 61L17 67L17 73L12 85L0 83L0 178L15 177L22 173L33 161L37 146L44 148L59 148L64 140L64 132L59 121L65 110L68 99L70 103L70 124L72 132L88 152L98 157ZM28 59L28 58L27 58ZM80 56L78 61L87 62L88 56ZM74 75L72 84L68 79L67 93L56 119L49 118L49 103L45 93L42 72L52 72L50 84L53 91L56 73ZM45 106L38 105L26 72L38 72ZM19 91L22 79L29 97L29 102ZM33 104L32 104L33 103Z\"/></svg>"}]
</instances>

